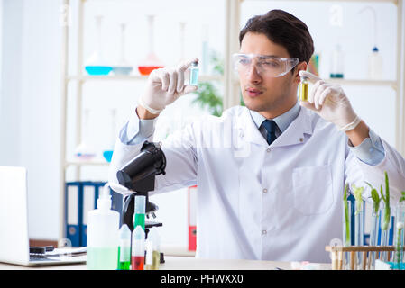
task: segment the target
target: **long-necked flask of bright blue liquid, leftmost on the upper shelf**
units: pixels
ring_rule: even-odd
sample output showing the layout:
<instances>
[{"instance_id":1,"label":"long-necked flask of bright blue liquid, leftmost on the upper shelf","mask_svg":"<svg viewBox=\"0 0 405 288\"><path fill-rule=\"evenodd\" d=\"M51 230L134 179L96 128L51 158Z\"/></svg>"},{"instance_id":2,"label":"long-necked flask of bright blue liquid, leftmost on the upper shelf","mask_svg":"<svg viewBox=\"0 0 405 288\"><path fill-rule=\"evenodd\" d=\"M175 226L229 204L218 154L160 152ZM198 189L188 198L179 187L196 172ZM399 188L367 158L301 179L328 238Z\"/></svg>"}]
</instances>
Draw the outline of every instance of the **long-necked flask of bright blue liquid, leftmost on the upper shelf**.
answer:
<instances>
[{"instance_id":1,"label":"long-necked flask of bright blue liquid, leftmost on the upper shelf","mask_svg":"<svg viewBox=\"0 0 405 288\"><path fill-rule=\"evenodd\" d=\"M97 28L97 48L91 54L85 63L85 69L88 75L91 76L99 76L99 75L108 75L113 67L109 66L106 63L106 59L104 58L104 50L103 50L103 40L101 34L101 26L103 23L103 16L97 15L96 16L96 28Z\"/></svg>"}]
</instances>

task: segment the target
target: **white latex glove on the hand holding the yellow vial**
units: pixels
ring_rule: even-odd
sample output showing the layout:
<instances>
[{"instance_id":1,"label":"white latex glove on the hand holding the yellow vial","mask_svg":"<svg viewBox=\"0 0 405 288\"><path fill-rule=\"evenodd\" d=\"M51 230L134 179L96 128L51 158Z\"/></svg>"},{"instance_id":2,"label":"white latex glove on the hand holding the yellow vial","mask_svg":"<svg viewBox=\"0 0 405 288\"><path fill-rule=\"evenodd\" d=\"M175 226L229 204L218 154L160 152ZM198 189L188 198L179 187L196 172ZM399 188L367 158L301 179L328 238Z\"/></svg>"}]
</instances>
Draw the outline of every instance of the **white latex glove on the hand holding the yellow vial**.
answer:
<instances>
[{"instance_id":1,"label":"white latex glove on the hand holding the yellow vial","mask_svg":"<svg viewBox=\"0 0 405 288\"><path fill-rule=\"evenodd\" d=\"M334 123L337 130L352 130L360 123L361 119L354 112L340 85L327 83L303 70L299 71L299 76L308 77L308 81L315 84L308 94L308 102L301 101L301 106L317 112L326 121Z\"/></svg>"}]
</instances>

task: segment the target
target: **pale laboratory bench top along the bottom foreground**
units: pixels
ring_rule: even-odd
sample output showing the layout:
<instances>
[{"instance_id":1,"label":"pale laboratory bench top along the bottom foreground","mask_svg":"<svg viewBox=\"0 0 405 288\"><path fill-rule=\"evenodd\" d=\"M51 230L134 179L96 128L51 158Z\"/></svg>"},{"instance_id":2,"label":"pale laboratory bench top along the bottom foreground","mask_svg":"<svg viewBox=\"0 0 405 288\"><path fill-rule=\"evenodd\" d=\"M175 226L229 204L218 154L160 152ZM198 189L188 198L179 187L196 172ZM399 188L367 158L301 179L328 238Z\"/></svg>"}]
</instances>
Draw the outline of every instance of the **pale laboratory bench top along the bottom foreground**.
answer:
<instances>
[{"instance_id":1,"label":"pale laboratory bench top along the bottom foreground","mask_svg":"<svg viewBox=\"0 0 405 288\"><path fill-rule=\"evenodd\" d=\"M330 264L320 264L322 270L330 270ZM86 270L86 264L56 266L15 266L0 263L0 270ZM259 260L201 259L196 257L165 256L160 270L291 270L290 262Z\"/></svg>"}]
</instances>

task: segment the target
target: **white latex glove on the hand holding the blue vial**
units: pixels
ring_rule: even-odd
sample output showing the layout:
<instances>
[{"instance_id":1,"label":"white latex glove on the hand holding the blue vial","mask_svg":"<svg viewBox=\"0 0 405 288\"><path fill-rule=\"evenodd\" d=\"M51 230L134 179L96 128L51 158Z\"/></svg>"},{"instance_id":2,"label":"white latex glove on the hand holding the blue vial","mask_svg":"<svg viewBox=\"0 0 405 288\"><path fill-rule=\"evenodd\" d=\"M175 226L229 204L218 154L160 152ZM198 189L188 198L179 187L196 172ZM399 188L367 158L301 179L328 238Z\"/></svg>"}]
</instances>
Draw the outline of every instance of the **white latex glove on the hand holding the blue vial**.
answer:
<instances>
[{"instance_id":1,"label":"white latex glove on the hand holding the blue vial","mask_svg":"<svg viewBox=\"0 0 405 288\"><path fill-rule=\"evenodd\" d=\"M198 61L193 58L178 67L155 69L148 77L146 88L138 102L153 114L159 114L167 105L179 96L194 92L198 86L184 85L185 72L191 63Z\"/></svg>"}]
</instances>

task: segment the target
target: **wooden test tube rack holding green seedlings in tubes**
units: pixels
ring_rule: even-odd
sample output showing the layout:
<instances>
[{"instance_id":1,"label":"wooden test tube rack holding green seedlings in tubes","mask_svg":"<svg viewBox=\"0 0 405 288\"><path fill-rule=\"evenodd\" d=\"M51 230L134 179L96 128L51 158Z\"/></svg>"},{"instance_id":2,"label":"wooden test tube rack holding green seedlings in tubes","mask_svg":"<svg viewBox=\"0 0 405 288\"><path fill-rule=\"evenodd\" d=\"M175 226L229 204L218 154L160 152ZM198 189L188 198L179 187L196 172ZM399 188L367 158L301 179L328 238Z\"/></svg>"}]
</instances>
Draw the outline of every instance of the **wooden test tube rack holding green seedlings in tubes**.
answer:
<instances>
[{"instance_id":1,"label":"wooden test tube rack holding green seedlings in tubes","mask_svg":"<svg viewBox=\"0 0 405 288\"><path fill-rule=\"evenodd\" d=\"M392 261L395 249L395 246L325 247L325 250L331 253L332 270L372 270L375 259ZM405 251L405 247L402 247L402 250ZM357 265L358 257L362 257L360 266Z\"/></svg>"}]
</instances>

